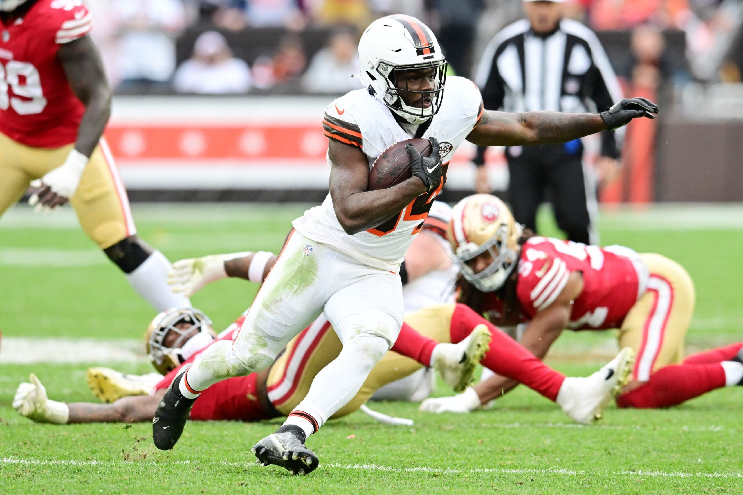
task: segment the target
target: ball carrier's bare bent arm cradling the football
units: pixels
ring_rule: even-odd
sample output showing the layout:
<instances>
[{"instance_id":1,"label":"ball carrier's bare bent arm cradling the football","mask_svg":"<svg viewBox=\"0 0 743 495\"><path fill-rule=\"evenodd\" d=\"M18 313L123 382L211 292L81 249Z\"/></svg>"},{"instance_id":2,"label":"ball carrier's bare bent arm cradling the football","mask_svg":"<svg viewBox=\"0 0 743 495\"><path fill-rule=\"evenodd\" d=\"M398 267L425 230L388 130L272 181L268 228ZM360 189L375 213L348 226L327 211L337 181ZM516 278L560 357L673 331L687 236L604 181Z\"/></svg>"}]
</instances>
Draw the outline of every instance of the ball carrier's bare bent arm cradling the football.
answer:
<instances>
[{"instance_id":1,"label":"ball carrier's bare bent arm cradling the football","mask_svg":"<svg viewBox=\"0 0 743 495\"><path fill-rule=\"evenodd\" d=\"M418 177L388 189L367 191L369 163L359 149L330 140L328 154L333 166L328 184L335 214L348 234L371 229L401 212L426 192Z\"/></svg>"}]
</instances>

